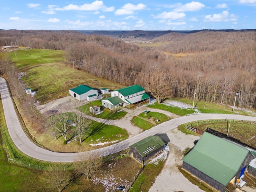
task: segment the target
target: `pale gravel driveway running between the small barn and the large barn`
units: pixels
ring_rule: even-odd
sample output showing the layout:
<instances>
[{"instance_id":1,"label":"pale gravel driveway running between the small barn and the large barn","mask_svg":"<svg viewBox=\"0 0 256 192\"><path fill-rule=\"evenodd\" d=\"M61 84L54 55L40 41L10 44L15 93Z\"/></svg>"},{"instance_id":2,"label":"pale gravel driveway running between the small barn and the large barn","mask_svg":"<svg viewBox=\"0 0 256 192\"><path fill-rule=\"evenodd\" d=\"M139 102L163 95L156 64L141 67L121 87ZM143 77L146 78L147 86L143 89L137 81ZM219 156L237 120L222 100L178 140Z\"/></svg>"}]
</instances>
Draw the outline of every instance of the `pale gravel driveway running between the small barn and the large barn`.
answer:
<instances>
[{"instance_id":1,"label":"pale gravel driveway running between the small barn and the large barn","mask_svg":"<svg viewBox=\"0 0 256 192\"><path fill-rule=\"evenodd\" d=\"M194 140L198 136L186 135L177 129L167 133L170 142L170 152L166 159L162 172L156 177L156 181L149 192L204 192L198 186L188 181L178 170L182 165L183 151L194 146Z\"/></svg>"}]
</instances>

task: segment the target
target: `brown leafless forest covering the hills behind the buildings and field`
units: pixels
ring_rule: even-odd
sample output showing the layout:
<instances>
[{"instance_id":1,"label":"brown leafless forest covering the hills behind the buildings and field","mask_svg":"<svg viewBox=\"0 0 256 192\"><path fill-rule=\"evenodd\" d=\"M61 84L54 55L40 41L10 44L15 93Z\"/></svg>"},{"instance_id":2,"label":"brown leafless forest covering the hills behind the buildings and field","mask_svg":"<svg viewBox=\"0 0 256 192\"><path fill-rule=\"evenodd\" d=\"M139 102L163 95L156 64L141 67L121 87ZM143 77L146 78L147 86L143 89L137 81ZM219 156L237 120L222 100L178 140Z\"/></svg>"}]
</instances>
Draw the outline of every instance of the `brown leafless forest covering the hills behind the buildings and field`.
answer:
<instances>
[{"instance_id":1,"label":"brown leafless forest covering the hills behind the buildings and field","mask_svg":"<svg viewBox=\"0 0 256 192\"><path fill-rule=\"evenodd\" d=\"M69 64L126 85L140 84L159 101L193 98L256 107L256 32L170 32L138 47L106 36L76 31L0 30L0 46L65 50ZM168 53L168 54L166 54ZM186 56L176 57L182 53Z\"/></svg>"}]
</instances>

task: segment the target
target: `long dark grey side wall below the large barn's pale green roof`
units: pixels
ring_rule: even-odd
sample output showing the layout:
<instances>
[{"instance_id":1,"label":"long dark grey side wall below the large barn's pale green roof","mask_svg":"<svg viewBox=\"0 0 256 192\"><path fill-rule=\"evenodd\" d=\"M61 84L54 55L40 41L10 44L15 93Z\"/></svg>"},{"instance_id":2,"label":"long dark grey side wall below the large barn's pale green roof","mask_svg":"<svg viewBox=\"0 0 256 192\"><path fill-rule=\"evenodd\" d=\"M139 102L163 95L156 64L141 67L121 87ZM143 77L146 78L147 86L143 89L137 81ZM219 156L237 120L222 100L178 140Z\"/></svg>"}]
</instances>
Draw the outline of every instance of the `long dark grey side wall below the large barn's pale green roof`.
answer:
<instances>
[{"instance_id":1,"label":"long dark grey side wall below the large barn's pale green roof","mask_svg":"<svg viewBox=\"0 0 256 192\"><path fill-rule=\"evenodd\" d=\"M212 186L216 190L220 192L225 192L226 186L219 183L218 181L214 180L213 178L209 177L208 175L204 174L203 172L199 171L198 169L192 167L191 165L187 164L183 161L182 168L188 172L190 172L192 175L196 176L203 182L207 183L208 185Z\"/></svg>"}]
</instances>

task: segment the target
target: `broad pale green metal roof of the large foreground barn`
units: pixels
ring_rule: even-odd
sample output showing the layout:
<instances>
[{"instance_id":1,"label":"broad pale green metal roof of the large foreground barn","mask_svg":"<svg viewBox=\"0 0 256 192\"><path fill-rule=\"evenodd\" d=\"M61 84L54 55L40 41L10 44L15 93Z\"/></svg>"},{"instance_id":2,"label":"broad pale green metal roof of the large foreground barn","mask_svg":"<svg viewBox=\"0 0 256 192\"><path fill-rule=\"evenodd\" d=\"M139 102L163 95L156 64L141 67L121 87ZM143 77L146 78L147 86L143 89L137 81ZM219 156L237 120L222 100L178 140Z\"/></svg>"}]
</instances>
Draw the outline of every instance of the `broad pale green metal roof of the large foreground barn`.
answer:
<instances>
[{"instance_id":1,"label":"broad pale green metal roof of the large foreground barn","mask_svg":"<svg viewBox=\"0 0 256 192\"><path fill-rule=\"evenodd\" d=\"M248 153L249 150L233 142L204 132L182 160L226 186Z\"/></svg>"}]
</instances>

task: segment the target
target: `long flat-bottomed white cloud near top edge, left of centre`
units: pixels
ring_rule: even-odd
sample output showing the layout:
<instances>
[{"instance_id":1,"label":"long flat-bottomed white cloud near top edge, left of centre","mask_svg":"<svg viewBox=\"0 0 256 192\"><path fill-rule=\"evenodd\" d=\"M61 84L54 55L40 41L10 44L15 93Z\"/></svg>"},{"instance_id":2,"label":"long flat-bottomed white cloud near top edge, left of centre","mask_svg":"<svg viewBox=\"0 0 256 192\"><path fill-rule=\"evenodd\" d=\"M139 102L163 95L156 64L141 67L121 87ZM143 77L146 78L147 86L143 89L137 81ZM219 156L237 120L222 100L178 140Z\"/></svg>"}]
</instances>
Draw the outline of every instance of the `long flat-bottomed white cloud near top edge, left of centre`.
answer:
<instances>
[{"instance_id":1,"label":"long flat-bottomed white cloud near top edge, left of centre","mask_svg":"<svg viewBox=\"0 0 256 192\"><path fill-rule=\"evenodd\" d=\"M74 5L69 4L68 6L64 6L63 8L55 8L57 11L70 11L70 10L76 10L76 11L114 11L114 7L106 7L103 4L103 1L94 1L91 4L83 4L83 5Z\"/></svg>"}]
</instances>

